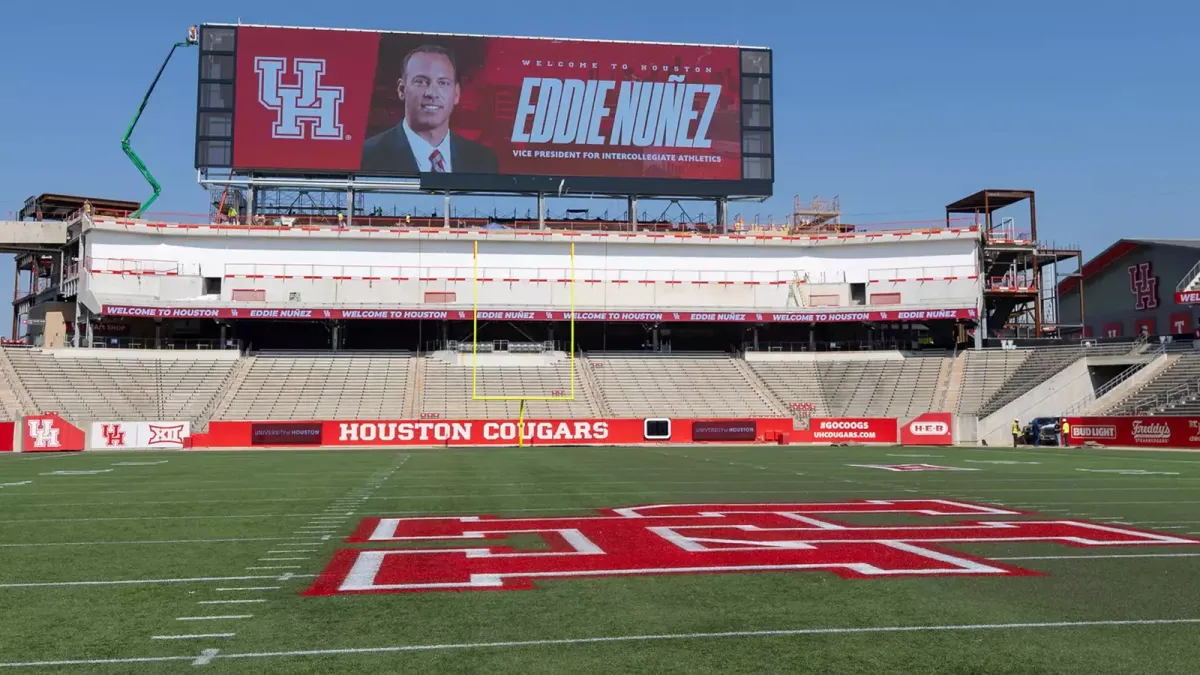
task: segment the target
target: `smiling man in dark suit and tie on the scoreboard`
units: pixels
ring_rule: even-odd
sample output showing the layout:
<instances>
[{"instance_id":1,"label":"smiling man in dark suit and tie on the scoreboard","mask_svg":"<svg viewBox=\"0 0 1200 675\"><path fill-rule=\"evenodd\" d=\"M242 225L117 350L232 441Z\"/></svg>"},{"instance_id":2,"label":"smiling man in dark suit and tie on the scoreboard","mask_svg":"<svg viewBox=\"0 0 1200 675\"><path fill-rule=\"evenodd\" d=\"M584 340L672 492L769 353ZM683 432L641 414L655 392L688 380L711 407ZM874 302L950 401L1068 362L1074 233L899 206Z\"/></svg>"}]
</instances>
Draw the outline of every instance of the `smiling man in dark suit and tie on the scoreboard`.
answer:
<instances>
[{"instance_id":1,"label":"smiling man in dark suit and tie on the scoreboard","mask_svg":"<svg viewBox=\"0 0 1200 675\"><path fill-rule=\"evenodd\" d=\"M458 68L445 47L424 44L404 56L396 91L404 119L362 144L362 173L496 173L496 154L450 131Z\"/></svg>"}]
</instances>

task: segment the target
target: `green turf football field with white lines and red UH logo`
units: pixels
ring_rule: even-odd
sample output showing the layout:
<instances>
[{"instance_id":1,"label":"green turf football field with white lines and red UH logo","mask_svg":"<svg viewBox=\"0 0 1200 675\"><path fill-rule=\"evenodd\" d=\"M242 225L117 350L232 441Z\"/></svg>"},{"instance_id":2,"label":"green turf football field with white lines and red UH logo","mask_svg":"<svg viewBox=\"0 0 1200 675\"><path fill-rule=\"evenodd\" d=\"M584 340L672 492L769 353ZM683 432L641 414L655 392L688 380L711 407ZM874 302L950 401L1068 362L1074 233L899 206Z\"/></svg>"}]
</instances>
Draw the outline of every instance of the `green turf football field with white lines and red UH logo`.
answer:
<instances>
[{"instance_id":1,"label":"green turf football field with white lines and red UH logo","mask_svg":"<svg viewBox=\"0 0 1200 675\"><path fill-rule=\"evenodd\" d=\"M1195 674L1200 455L0 456L10 669Z\"/></svg>"}]
</instances>

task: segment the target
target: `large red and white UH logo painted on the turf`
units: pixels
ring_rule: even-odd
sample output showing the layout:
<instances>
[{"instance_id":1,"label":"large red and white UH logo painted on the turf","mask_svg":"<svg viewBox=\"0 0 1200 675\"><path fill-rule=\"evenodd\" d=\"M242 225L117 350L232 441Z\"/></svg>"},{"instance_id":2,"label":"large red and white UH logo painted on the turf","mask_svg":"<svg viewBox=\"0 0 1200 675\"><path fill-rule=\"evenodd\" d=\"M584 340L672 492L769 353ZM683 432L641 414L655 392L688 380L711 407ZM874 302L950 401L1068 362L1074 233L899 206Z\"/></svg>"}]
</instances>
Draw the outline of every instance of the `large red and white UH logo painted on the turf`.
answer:
<instances>
[{"instance_id":1,"label":"large red and white UH logo painted on the turf","mask_svg":"<svg viewBox=\"0 0 1200 675\"><path fill-rule=\"evenodd\" d=\"M988 542L1070 546L1200 544L1078 520L958 520L850 525L833 514L1031 515L949 500L844 503L655 504L569 518L370 518L347 543L461 542L450 548L343 549L306 596L528 590L542 579L826 571L847 579L1039 573L950 550ZM548 550L488 545L539 534Z\"/></svg>"}]
</instances>

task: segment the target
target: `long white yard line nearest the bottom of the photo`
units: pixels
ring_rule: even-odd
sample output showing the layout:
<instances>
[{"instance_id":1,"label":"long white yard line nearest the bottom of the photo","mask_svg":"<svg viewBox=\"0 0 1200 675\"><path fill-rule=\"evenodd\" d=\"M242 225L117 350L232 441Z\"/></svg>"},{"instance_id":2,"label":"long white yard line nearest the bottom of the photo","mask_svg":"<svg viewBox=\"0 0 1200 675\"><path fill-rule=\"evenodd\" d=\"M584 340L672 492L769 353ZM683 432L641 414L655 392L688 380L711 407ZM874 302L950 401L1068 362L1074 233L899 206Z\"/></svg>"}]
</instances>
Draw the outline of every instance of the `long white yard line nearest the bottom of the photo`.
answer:
<instances>
[{"instance_id":1,"label":"long white yard line nearest the bottom of the photo","mask_svg":"<svg viewBox=\"0 0 1200 675\"><path fill-rule=\"evenodd\" d=\"M150 656L134 658L91 658L91 659L65 659L65 661L30 661L30 662L0 662L0 668L52 668L64 665L106 665L120 663L167 663L173 661L187 661L193 664L205 665L214 661L227 658L294 658L300 656L338 656L338 655L364 655L364 653L396 653L396 652L420 652L420 651L450 651L450 650L478 650L478 649L520 649L520 647L547 647L563 645L588 645L588 644L616 644L637 643L655 640L714 640L727 638L787 638L799 635L860 635L870 633L929 633L948 631L1020 631L1038 628L1092 628L1103 626L1172 626L1182 623L1200 623L1200 619L1135 619L1135 620L1110 620L1110 621L1049 621L1040 623L961 623L952 626L877 626L877 627L853 627L853 628L796 628L782 631L731 631L725 633L659 633L646 635L601 635L593 638L559 638L546 640L511 640L496 643L446 643L437 645L395 645L383 647L349 647L326 650L295 650L274 652L232 652L220 653L218 650L206 649L199 656ZM155 635L156 640L184 640L199 638L232 638L234 633L210 633L206 635Z\"/></svg>"}]
</instances>

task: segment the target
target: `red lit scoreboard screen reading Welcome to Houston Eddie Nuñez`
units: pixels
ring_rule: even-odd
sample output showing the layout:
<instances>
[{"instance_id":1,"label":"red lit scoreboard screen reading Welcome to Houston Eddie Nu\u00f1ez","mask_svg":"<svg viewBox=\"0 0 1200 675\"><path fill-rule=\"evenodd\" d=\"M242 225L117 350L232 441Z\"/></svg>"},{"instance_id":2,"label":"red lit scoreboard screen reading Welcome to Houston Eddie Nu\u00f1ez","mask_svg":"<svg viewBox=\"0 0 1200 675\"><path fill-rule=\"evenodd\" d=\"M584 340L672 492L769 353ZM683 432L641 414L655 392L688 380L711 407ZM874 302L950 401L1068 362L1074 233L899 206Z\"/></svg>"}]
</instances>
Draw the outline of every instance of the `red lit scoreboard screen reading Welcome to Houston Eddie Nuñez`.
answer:
<instances>
[{"instance_id":1,"label":"red lit scoreboard screen reading Welcome to Houston Eddie Nu\u00f1ez","mask_svg":"<svg viewBox=\"0 0 1200 675\"><path fill-rule=\"evenodd\" d=\"M232 167L738 181L740 54L239 26Z\"/></svg>"}]
</instances>

